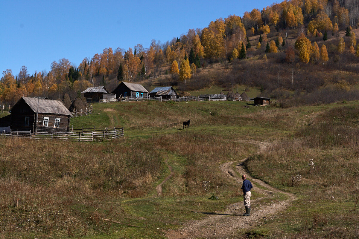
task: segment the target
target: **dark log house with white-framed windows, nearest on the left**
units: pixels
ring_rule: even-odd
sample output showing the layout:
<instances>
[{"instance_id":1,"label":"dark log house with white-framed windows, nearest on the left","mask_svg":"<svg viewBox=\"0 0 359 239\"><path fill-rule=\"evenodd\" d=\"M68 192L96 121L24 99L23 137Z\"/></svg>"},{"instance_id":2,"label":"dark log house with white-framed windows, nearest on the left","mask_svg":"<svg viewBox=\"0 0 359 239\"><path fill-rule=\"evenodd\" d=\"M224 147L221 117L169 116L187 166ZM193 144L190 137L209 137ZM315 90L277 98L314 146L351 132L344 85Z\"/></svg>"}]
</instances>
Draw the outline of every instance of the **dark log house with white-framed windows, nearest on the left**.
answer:
<instances>
[{"instance_id":1,"label":"dark log house with white-framed windows, nearest on the left","mask_svg":"<svg viewBox=\"0 0 359 239\"><path fill-rule=\"evenodd\" d=\"M58 100L21 97L10 110L12 131L66 132L72 114Z\"/></svg>"}]
</instances>

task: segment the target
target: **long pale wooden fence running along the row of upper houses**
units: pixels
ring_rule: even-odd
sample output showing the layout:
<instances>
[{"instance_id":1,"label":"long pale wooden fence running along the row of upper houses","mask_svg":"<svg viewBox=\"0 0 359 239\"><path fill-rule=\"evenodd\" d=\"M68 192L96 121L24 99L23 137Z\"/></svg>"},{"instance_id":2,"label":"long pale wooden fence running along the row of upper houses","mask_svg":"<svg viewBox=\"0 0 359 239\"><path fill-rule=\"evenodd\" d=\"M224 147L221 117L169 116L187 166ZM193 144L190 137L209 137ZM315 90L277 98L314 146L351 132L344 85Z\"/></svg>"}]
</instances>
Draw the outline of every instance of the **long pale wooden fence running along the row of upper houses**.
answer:
<instances>
[{"instance_id":1,"label":"long pale wooden fence running along the row of upper houses","mask_svg":"<svg viewBox=\"0 0 359 239\"><path fill-rule=\"evenodd\" d=\"M229 100L229 101L240 101L238 98L235 97L229 97L227 98L227 96L217 96L217 97L199 97L199 96L183 96L183 97L177 97L177 98L165 98L165 97L150 97L150 96L146 96L146 97L117 97L117 98L112 98L112 99L103 99L103 100L99 100L99 103L110 103L110 102L130 102L130 101L150 101L150 100L154 100L154 101L225 101L225 100ZM249 98L245 98L242 100L246 100L249 101Z\"/></svg>"}]
</instances>

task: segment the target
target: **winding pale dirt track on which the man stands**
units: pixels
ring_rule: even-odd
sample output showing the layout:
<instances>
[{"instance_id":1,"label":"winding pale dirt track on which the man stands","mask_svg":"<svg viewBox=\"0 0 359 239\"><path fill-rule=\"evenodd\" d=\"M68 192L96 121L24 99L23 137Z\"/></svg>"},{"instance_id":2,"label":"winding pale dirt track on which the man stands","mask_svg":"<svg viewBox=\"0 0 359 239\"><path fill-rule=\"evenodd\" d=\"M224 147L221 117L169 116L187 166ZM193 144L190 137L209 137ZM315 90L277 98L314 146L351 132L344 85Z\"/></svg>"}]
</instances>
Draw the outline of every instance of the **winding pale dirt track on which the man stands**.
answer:
<instances>
[{"instance_id":1,"label":"winding pale dirt track on which the man stands","mask_svg":"<svg viewBox=\"0 0 359 239\"><path fill-rule=\"evenodd\" d=\"M261 143L264 145L264 147L266 147L266 143ZM261 147L260 150L263 150L264 147ZM273 202L271 204L261 205L256 204L256 201L260 200L261 198L251 200L251 216L242 216L245 212L243 201L228 205L227 209L222 212L196 212L210 216L202 220L191 220L186 223L180 230L167 231L166 233L169 239L237 238L236 233L238 230L250 229L261 225L267 216L278 213L290 205L293 200L295 200L295 196L292 194L280 191L261 180L250 177L248 172L243 167L243 162L245 160L246 159L243 159L239 162L227 162L220 165L219 168L222 170L226 177L230 177L234 181L238 182L238 190L241 190L240 187L242 185L242 178L238 175L246 174L247 179L252 182L252 191L264 194L265 198L270 198ZM233 171L233 163L236 163L237 172ZM256 185L260 185L265 189L259 188ZM274 195L274 192L284 193L288 196L288 199L278 202L276 200L276 197L278 196Z\"/></svg>"}]
</instances>

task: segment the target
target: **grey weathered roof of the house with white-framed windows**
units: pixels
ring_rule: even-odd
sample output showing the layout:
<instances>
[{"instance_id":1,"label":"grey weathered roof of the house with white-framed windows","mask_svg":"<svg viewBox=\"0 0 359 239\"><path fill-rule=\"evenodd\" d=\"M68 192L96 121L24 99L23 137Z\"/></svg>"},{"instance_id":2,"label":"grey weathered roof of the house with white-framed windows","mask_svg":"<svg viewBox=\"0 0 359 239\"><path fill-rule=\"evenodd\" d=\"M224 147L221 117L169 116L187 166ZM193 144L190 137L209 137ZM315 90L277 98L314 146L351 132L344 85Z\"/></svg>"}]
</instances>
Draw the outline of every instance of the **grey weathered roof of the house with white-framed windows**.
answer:
<instances>
[{"instance_id":1,"label":"grey weathered roof of the house with white-framed windows","mask_svg":"<svg viewBox=\"0 0 359 239\"><path fill-rule=\"evenodd\" d=\"M20 104L21 101L24 101L28 106L30 106L34 113L72 116L70 111L66 109L64 103L59 100L21 97L21 99L11 109L13 109L16 105Z\"/></svg>"}]
</instances>

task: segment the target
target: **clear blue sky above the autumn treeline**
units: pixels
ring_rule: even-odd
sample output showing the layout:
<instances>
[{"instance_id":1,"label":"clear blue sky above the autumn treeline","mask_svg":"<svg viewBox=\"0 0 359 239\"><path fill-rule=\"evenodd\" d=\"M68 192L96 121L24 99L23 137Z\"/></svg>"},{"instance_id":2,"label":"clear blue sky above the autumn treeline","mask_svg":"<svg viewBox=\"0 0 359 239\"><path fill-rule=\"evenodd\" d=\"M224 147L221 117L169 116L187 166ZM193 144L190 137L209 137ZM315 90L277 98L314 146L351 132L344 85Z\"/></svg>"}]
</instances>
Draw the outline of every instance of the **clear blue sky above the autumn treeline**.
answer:
<instances>
[{"instance_id":1,"label":"clear blue sky above the autumn treeline","mask_svg":"<svg viewBox=\"0 0 359 239\"><path fill-rule=\"evenodd\" d=\"M271 5L256 1L0 1L0 71L30 75L50 71L67 58L78 66L104 48L148 48L151 39L165 43L188 29L208 27L228 15Z\"/></svg>"}]
</instances>

